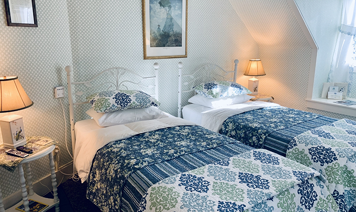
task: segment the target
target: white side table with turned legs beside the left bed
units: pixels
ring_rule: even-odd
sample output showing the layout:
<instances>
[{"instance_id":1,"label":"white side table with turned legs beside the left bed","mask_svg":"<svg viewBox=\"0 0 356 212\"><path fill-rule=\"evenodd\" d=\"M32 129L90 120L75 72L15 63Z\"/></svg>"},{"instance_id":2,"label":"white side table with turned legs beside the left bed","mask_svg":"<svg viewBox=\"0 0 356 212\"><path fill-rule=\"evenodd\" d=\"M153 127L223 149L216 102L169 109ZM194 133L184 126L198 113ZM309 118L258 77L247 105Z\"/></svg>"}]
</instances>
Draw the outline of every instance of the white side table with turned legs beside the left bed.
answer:
<instances>
[{"instance_id":1,"label":"white side table with turned legs beside the left bed","mask_svg":"<svg viewBox=\"0 0 356 212\"><path fill-rule=\"evenodd\" d=\"M58 194L57 194L57 179L56 179L56 172L55 172L55 162L53 160L53 153L52 153L52 151L55 149L55 147L56 147L56 145L49 146L38 153L35 153L33 155L26 157L18 166L19 175L20 175L21 191L22 191L22 200L23 200L23 202L21 202L21 203L25 206L26 212L28 212L30 210L30 208L28 207L28 204L29 204L28 199L33 199L35 201L47 204L48 207L46 207L44 210L42 210L43 212L48 210L49 208L52 208L52 207L55 207L56 212L60 211L59 198L58 198ZM48 157L49 157L49 167L50 167L50 175L52 178L54 199L49 199L49 198L44 198L44 197L39 196L38 194L36 194L33 191L33 186L32 186L32 175L31 175L31 168L30 168L29 162L35 161L35 160L37 160L41 157L44 157L46 155L48 155ZM26 180L24 177L24 170L22 167L23 164L25 164L25 168L26 168L28 194L27 194L27 190L26 190ZM1 190L0 190L0 212L4 212L4 211L18 212L19 210L17 210L16 207L18 207L19 205L21 205L21 204L20 203L15 204L13 207L11 207L7 210L4 210L2 194L1 194Z\"/></svg>"}]
</instances>

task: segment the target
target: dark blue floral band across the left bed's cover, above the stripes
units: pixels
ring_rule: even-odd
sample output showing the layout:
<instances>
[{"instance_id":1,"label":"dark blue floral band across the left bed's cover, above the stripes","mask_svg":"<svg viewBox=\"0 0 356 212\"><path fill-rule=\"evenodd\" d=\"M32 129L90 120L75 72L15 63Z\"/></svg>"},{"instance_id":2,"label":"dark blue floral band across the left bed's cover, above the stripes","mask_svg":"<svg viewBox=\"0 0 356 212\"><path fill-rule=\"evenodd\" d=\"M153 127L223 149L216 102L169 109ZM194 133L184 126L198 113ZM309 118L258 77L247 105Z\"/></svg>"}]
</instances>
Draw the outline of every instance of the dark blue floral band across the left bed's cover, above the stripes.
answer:
<instances>
[{"instance_id":1,"label":"dark blue floral band across the left bed's cover, above the stripes","mask_svg":"<svg viewBox=\"0 0 356 212\"><path fill-rule=\"evenodd\" d=\"M118 211L129 176L149 165L238 141L200 126L178 126L113 141L99 149L89 175L87 198L103 211Z\"/></svg>"}]
</instances>

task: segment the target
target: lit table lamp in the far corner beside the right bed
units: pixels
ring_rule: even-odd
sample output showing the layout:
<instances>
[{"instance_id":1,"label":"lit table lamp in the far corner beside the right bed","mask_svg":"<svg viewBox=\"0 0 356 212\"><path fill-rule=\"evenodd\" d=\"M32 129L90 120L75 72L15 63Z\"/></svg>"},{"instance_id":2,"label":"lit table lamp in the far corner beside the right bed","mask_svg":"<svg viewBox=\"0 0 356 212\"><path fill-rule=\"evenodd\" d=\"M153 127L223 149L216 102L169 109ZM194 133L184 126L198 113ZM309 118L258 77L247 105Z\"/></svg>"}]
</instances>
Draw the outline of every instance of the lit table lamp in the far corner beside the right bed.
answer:
<instances>
[{"instance_id":1,"label":"lit table lamp in the far corner beside the right bed","mask_svg":"<svg viewBox=\"0 0 356 212\"><path fill-rule=\"evenodd\" d=\"M260 59L249 60L247 69L243 75L253 76L251 79L248 79L248 90L252 94L259 93L259 80L255 76L264 76L266 75L265 70L263 69L262 62Z\"/></svg>"}]
</instances>

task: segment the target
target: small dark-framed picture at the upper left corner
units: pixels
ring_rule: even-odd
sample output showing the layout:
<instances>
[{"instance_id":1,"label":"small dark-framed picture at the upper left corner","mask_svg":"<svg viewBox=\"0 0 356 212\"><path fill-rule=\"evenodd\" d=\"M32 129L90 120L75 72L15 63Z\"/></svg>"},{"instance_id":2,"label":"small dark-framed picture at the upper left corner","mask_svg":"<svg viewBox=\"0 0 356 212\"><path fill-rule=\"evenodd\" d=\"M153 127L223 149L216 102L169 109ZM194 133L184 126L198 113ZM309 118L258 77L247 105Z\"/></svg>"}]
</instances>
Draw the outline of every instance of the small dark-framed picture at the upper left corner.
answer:
<instances>
[{"instance_id":1,"label":"small dark-framed picture at the upper left corner","mask_svg":"<svg viewBox=\"0 0 356 212\"><path fill-rule=\"evenodd\" d=\"M35 0L5 0L8 26L38 27Z\"/></svg>"}]
</instances>

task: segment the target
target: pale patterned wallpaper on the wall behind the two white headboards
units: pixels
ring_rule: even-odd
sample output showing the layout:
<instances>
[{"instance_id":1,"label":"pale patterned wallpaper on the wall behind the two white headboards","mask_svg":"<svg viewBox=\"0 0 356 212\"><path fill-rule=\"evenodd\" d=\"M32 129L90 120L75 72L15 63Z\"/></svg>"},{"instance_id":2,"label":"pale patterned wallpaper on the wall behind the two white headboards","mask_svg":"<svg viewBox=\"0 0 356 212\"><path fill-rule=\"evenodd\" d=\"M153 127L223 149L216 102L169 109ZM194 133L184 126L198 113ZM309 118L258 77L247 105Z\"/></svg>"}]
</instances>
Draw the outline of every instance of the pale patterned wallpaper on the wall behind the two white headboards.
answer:
<instances>
[{"instance_id":1,"label":"pale patterned wallpaper on the wall behind the two white headboards","mask_svg":"<svg viewBox=\"0 0 356 212\"><path fill-rule=\"evenodd\" d=\"M84 80L99 70L127 67L150 75L152 65L160 63L161 109L177 115L178 62L185 72L205 63L234 69L239 73L250 58L259 54L256 41L231 8L228 1L188 2L188 58L143 60L140 0L68 1L75 80ZM98 18L100 17L100 18ZM80 75L78 74L80 73ZM247 82L246 82L247 83ZM78 107L83 114L85 109ZM81 118L84 118L83 115Z\"/></svg>"}]
</instances>

